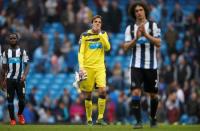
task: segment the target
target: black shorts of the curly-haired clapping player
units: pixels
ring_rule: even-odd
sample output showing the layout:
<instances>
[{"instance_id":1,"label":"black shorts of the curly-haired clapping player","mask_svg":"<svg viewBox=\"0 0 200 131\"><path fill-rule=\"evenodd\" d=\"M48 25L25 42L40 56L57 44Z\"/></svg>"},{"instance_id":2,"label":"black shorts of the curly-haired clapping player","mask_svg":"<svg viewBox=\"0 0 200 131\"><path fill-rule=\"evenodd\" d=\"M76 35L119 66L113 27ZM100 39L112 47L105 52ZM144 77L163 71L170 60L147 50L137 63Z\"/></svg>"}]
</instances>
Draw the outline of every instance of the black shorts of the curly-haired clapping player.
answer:
<instances>
[{"instance_id":1,"label":"black shorts of the curly-haired clapping player","mask_svg":"<svg viewBox=\"0 0 200 131\"><path fill-rule=\"evenodd\" d=\"M142 88L148 93L158 93L157 69L131 68L131 89Z\"/></svg>"}]
</instances>

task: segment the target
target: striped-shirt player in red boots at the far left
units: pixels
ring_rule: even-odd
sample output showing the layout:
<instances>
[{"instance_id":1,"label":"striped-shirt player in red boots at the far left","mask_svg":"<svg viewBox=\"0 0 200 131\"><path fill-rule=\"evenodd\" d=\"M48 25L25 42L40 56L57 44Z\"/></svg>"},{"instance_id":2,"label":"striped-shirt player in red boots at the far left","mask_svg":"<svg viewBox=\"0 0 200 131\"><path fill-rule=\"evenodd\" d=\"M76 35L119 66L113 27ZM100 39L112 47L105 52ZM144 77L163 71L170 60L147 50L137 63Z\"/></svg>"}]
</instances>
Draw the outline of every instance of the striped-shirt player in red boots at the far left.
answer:
<instances>
[{"instance_id":1,"label":"striped-shirt player in red boots at the far left","mask_svg":"<svg viewBox=\"0 0 200 131\"><path fill-rule=\"evenodd\" d=\"M15 92L19 99L18 121L25 124L22 115L25 106L25 80L29 71L29 57L26 50L20 48L16 33L8 34L6 44L9 48L3 52L3 83L7 89L8 111L10 114L10 124L16 125L13 100Z\"/></svg>"}]
</instances>

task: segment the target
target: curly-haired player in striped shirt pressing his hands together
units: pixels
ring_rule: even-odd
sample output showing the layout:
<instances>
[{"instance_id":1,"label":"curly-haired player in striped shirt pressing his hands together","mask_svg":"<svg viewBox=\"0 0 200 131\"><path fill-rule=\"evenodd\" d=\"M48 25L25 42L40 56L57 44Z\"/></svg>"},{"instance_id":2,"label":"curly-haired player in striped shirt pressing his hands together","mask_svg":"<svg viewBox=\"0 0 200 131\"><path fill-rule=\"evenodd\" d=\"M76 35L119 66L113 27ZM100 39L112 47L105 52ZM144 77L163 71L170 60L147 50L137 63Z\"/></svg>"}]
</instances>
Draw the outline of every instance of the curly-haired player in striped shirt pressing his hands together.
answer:
<instances>
[{"instance_id":1,"label":"curly-haired player in striped shirt pressing his hands together","mask_svg":"<svg viewBox=\"0 0 200 131\"><path fill-rule=\"evenodd\" d=\"M136 118L133 128L142 128L140 100L142 89L150 96L150 126L157 125L158 105L158 62L156 48L160 47L160 29L148 19L149 10L145 3L135 2L129 8L135 23L125 31L124 49L132 49L131 67L131 113Z\"/></svg>"}]
</instances>

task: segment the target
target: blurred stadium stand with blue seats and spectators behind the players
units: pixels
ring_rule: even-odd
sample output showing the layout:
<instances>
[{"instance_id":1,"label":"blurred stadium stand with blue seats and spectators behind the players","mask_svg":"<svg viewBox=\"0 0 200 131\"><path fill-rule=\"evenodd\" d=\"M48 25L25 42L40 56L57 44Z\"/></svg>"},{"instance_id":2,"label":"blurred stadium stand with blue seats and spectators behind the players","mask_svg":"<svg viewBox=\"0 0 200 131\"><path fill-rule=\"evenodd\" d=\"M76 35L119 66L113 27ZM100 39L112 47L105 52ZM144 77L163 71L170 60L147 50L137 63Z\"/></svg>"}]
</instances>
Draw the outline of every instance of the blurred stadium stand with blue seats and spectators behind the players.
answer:
<instances>
[{"instance_id":1,"label":"blurred stadium stand with blue seats and spectators behind the players","mask_svg":"<svg viewBox=\"0 0 200 131\"><path fill-rule=\"evenodd\" d=\"M31 69L26 83L27 123L82 124L83 96L72 86L77 67L78 40L99 14L109 32L112 50L106 54L107 108L110 124L131 124L129 115L130 52L120 47L132 22L128 7L135 0L0 0L0 45L16 31L29 51ZM160 123L200 123L200 0L143 0L150 17L159 23ZM94 93L93 102L97 101ZM147 96L142 97L143 122L148 123ZM15 101L17 107L17 99ZM97 107L94 104L94 113ZM96 115L94 115L96 118ZM8 122L6 99L0 94L0 122Z\"/></svg>"}]
</instances>

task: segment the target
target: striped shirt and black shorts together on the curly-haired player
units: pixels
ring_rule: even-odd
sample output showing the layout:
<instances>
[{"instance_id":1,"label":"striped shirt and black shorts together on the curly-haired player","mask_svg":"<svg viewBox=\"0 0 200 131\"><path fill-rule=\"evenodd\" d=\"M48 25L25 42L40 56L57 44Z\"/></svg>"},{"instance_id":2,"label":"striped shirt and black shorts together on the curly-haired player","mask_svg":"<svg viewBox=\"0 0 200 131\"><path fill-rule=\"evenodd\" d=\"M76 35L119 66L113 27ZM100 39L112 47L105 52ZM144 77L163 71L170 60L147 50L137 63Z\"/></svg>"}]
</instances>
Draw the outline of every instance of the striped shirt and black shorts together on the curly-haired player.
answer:
<instances>
[{"instance_id":1,"label":"striped shirt and black shorts together on the curly-haired player","mask_svg":"<svg viewBox=\"0 0 200 131\"><path fill-rule=\"evenodd\" d=\"M137 35L138 25L128 25L125 30L125 42L130 42ZM151 36L160 38L160 28L153 21L146 21L144 29ZM145 36L137 38L132 47L131 67L131 88L141 88L144 84L144 91L157 93L158 91L158 62L156 58L157 46L150 42Z\"/></svg>"}]
</instances>

